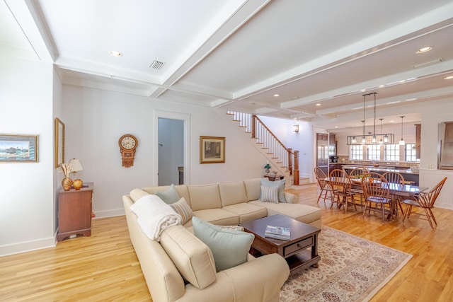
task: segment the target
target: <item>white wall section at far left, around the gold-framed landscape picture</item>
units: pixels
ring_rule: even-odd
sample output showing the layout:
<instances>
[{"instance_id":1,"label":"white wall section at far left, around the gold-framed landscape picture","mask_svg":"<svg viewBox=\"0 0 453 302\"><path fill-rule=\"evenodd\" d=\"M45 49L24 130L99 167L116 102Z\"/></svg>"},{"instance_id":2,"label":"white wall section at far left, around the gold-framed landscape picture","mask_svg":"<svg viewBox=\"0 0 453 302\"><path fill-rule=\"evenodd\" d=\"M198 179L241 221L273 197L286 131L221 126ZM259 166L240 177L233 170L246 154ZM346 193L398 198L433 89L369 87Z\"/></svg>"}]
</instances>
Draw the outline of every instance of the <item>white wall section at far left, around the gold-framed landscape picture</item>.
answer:
<instances>
[{"instance_id":1,"label":"white wall section at far left, around the gold-framed landscape picture","mask_svg":"<svg viewBox=\"0 0 453 302\"><path fill-rule=\"evenodd\" d=\"M0 163L0 255L55 245L52 64L0 55L0 133L39 136L38 163ZM54 83L55 81L55 83Z\"/></svg>"}]
</instances>

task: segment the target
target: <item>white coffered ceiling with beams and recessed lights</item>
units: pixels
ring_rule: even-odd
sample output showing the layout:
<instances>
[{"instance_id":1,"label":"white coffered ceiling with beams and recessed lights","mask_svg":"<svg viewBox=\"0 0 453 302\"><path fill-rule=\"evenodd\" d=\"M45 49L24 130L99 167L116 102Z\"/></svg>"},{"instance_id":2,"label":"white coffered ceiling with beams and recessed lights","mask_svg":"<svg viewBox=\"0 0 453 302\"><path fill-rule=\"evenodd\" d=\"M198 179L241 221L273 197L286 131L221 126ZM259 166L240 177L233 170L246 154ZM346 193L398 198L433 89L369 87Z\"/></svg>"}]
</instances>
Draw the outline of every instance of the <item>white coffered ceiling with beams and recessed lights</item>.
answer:
<instances>
[{"instance_id":1,"label":"white coffered ceiling with beams and recessed lights","mask_svg":"<svg viewBox=\"0 0 453 302\"><path fill-rule=\"evenodd\" d=\"M360 127L368 93L384 124L453 98L447 0L1 0L0 26L63 83L325 129Z\"/></svg>"}]
</instances>

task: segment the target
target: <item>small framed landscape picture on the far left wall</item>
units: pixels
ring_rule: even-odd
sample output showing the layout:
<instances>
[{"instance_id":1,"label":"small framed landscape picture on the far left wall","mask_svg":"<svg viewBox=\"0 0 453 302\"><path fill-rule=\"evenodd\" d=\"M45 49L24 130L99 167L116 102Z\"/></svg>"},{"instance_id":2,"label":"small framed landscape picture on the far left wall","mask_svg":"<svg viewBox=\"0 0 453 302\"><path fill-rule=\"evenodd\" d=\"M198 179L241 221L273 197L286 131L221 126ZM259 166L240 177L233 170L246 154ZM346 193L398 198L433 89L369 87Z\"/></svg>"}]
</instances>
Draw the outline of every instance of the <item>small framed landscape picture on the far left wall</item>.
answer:
<instances>
[{"instance_id":1,"label":"small framed landscape picture on the far left wall","mask_svg":"<svg viewBox=\"0 0 453 302\"><path fill-rule=\"evenodd\" d=\"M0 134L0 163L37 163L38 135Z\"/></svg>"}]
</instances>

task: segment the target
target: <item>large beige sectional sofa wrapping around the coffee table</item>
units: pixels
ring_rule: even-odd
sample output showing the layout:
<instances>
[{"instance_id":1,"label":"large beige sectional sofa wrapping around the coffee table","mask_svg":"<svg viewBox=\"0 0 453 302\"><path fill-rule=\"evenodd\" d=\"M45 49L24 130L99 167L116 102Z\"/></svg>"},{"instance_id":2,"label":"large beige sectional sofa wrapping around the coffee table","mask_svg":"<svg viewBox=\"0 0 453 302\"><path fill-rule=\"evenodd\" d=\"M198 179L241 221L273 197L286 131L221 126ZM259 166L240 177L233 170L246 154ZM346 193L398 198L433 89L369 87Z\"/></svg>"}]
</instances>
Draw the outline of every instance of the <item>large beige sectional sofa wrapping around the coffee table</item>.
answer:
<instances>
[{"instance_id":1,"label":"large beige sectional sofa wrapping around the coffee table","mask_svg":"<svg viewBox=\"0 0 453 302\"><path fill-rule=\"evenodd\" d=\"M320 209L292 203L293 194L285 192L286 203L260 202L260 178L175 187L194 216L216 225L284 214L321 228ZM287 262L280 255L248 255L247 262L216 272L212 252L193 235L191 220L166 228L160 242L149 239L130 207L145 194L165 190L168 186L144 187L122 197L131 241L154 302L279 300L280 288L289 276Z\"/></svg>"}]
</instances>

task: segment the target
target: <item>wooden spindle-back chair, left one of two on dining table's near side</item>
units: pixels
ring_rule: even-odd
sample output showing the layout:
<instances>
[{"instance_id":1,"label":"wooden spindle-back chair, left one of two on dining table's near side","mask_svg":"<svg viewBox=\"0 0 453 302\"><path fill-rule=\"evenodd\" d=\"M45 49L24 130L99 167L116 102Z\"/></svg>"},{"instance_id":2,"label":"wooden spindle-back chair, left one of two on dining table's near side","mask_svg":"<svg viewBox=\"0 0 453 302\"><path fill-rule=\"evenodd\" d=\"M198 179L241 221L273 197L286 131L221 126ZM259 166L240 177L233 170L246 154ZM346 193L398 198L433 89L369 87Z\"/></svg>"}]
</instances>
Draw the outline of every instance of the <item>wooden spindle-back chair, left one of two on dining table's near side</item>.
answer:
<instances>
[{"instance_id":1,"label":"wooden spindle-back chair, left one of two on dining table's near side","mask_svg":"<svg viewBox=\"0 0 453 302\"><path fill-rule=\"evenodd\" d=\"M334 169L329 174L329 180L331 180L333 194L331 209L336 199L338 209L340 209L342 205L345 206L345 213L348 212L348 204L353 204L355 210L357 210L354 202L355 193L351 191L351 180L348 173L346 173L345 170Z\"/></svg>"}]
</instances>

